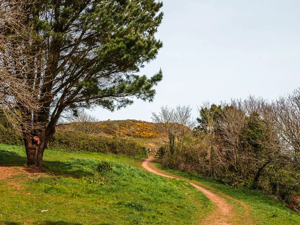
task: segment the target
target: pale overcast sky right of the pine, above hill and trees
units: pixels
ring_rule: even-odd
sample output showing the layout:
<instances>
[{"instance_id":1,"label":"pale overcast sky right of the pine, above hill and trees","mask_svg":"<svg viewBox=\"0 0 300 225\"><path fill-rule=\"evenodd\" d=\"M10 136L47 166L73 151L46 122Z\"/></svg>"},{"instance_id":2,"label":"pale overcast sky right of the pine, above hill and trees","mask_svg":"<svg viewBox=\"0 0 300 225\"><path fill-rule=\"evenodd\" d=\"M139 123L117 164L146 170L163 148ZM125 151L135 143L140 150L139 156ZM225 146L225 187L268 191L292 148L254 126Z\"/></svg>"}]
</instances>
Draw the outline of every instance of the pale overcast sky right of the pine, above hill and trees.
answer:
<instances>
[{"instance_id":1,"label":"pale overcast sky right of the pine, above hill and trees","mask_svg":"<svg viewBox=\"0 0 300 225\"><path fill-rule=\"evenodd\" d=\"M218 103L249 94L275 99L300 84L299 0L164 0L164 47L141 70L163 81L152 103L136 100L100 120L152 121L162 105Z\"/></svg>"}]
</instances>

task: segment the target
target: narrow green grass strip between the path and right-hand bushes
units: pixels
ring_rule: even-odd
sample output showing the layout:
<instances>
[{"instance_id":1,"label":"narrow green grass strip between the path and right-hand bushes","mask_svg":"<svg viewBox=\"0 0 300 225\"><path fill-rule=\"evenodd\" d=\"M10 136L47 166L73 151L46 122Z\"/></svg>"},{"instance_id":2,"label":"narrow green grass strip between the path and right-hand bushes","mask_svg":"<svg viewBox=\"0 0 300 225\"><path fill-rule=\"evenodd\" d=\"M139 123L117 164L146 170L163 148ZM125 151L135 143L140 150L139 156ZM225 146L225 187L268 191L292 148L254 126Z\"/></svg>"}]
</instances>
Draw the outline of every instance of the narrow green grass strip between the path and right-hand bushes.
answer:
<instances>
[{"instance_id":1,"label":"narrow green grass strip between the path and right-hand bushes","mask_svg":"<svg viewBox=\"0 0 300 225\"><path fill-rule=\"evenodd\" d=\"M299 225L300 215L290 211L280 200L272 196L265 195L256 190L234 189L224 184L216 183L211 179L195 174L184 173L177 170L162 168L156 163L157 167L169 173L185 177L187 179L199 181L210 187L222 191L224 194L239 199L249 205L252 216L263 225Z\"/></svg>"}]
</instances>

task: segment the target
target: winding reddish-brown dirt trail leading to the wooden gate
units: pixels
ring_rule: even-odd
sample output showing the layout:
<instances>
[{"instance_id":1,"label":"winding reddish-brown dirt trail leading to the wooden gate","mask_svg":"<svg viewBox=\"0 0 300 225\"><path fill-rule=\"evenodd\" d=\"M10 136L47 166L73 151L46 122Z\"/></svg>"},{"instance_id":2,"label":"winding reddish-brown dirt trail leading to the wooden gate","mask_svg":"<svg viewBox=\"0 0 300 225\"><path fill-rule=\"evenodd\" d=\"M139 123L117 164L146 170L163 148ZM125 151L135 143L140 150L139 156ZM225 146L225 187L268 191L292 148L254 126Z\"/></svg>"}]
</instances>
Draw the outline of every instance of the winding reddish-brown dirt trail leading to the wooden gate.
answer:
<instances>
[{"instance_id":1,"label":"winding reddish-brown dirt trail leading to the wooden gate","mask_svg":"<svg viewBox=\"0 0 300 225\"><path fill-rule=\"evenodd\" d=\"M181 176L176 176L171 173L167 173L163 170L159 170L155 167L153 161L155 161L155 158L148 158L143 161L142 167L149 172L158 174L160 176L168 177L168 178L176 178L176 179L182 179L190 182L191 185L202 191L210 200L214 203L216 206L215 210L208 215L206 219L204 219L201 223L203 225L233 225L233 224L255 224L253 221L251 221L250 215L249 215L249 207L241 201L238 201L232 197L226 196L220 191L217 191L223 196L220 196L219 194L216 194L208 189L211 189L200 182L193 181L183 178ZM212 189L214 190L214 189ZM229 201L226 198L229 198L235 202L237 202L241 207L244 208L244 212L238 213L235 211L235 207L232 203L229 203Z\"/></svg>"}]
</instances>

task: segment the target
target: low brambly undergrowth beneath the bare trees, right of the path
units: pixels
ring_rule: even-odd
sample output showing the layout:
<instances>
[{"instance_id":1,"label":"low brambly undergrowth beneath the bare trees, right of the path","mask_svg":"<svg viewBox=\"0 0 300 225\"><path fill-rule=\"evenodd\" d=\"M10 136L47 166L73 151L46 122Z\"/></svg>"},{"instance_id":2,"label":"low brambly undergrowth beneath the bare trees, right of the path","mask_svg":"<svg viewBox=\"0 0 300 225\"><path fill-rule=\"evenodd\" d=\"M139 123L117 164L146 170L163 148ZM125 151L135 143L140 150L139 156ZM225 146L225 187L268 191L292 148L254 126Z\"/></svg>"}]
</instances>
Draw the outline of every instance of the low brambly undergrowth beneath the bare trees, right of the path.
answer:
<instances>
[{"instance_id":1,"label":"low brambly undergrowth beneath the bare trees, right of the path","mask_svg":"<svg viewBox=\"0 0 300 225\"><path fill-rule=\"evenodd\" d=\"M195 150L193 146L196 146L195 143L190 147L185 146L181 149L178 145L174 154L170 153L169 146L167 146L168 151L161 160L162 166L186 173L195 173L200 176L209 176L215 182L233 188L256 189L262 193L276 196L282 199L289 208L300 211L300 173L291 169L293 164L268 164L261 171L257 184L253 186L253 180L259 168L255 162L250 161L248 165L244 164L245 174L241 176L236 167L228 167L228 170L225 170L220 164L212 161L213 173L209 174L208 166L210 164L207 155L205 155L207 149L199 145ZM204 163L200 164L199 161L204 161Z\"/></svg>"}]
</instances>

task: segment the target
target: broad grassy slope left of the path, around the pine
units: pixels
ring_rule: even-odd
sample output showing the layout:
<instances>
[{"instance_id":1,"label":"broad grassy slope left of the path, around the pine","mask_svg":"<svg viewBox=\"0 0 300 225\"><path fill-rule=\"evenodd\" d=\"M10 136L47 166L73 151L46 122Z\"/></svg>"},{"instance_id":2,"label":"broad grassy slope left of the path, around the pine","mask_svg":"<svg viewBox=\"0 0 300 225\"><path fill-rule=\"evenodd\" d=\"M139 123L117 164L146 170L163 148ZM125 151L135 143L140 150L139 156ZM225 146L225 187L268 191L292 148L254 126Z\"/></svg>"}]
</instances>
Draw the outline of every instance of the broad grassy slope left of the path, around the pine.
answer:
<instances>
[{"instance_id":1,"label":"broad grassy slope left of the path, around the pine","mask_svg":"<svg viewBox=\"0 0 300 225\"><path fill-rule=\"evenodd\" d=\"M95 172L101 160L112 170ZM24 166L24 147L0 145L4 164ZM0 224L180 225L200 221L213 208L187 182L136 168L138 158L47 149L44 164L46 176L16 173L0 180Z\"/></svg>"}]
</instances>

